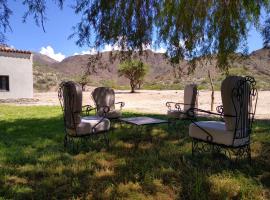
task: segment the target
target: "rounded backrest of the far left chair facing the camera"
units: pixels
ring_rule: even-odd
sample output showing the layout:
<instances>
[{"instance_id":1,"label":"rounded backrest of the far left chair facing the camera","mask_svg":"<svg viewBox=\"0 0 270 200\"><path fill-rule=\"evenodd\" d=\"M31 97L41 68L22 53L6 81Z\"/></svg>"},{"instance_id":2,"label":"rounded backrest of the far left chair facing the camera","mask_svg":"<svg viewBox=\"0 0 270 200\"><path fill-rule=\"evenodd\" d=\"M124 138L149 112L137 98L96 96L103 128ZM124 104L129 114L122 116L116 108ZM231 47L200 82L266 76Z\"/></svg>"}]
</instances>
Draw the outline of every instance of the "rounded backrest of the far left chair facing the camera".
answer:
<instances>
[{"instance_id":1,"label":"rounded backrest of the far left chair facing the camera","mask_svg":"<svg viewBox=\"0 0 270 200\"><path fill-rule=\"evenodd\" d=\"M103 106L108 106L110 109L115 109L115 93L112 88L98 87L92 92L92 98L96 104L97 110Z\"/></svg>"}]
</instances>

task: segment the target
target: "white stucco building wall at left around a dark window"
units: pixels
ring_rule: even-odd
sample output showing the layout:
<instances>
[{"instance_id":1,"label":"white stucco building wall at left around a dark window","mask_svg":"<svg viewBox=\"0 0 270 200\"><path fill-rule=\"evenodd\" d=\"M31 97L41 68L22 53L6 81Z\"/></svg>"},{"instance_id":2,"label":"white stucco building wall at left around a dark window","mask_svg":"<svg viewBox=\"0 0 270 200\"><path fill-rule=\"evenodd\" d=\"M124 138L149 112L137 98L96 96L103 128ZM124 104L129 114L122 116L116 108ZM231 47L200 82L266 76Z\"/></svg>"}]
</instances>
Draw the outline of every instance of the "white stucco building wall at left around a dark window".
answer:
<instances>
[{"instance_id":1,"label":"white stucco building wall at left around a dark window","mask_svg":"<svg viewBox=\"0 0 270 200\"><path fill-rule=\"evenodd\" d=\"M0 99L33 98L31 54L0 52L0 75L9 76L9 91L0 91Z\"/></svg>"}]
</instances>

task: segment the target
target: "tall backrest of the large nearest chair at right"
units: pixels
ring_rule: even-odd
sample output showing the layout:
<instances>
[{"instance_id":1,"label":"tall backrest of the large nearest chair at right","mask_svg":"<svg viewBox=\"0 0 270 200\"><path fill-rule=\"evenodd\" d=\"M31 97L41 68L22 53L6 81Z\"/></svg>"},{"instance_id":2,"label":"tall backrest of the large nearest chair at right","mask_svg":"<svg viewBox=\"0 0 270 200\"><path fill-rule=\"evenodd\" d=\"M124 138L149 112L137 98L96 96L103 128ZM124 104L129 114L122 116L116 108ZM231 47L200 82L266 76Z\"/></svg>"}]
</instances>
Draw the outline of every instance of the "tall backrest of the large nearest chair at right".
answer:
<instances>
[{"instance_id":1,"label":"tall backrest of the large nearest chair at right","mask_svg":"<svg viewBox=\"0 0 270 200\"><path fill-rule=\"evenodd\" d=\"M249 137L251 133L258 97L255 85L252 77L228 76L222 82L224 121L226 129L234 131L235 139Z\"/></svg>"}]
</instances>

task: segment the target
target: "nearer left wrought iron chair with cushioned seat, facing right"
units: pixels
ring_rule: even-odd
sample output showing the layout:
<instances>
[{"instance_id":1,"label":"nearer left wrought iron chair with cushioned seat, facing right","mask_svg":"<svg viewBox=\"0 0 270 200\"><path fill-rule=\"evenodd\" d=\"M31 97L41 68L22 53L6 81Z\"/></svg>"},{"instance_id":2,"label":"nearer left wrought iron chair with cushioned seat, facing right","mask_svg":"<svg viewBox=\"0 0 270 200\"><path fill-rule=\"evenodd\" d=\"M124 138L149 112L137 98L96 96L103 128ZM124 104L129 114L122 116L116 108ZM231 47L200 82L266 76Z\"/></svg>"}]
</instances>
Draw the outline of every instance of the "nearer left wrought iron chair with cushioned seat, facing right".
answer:
<instances>
[{"instance_id":1,"label":"nearer left wrought iron chair with cushioned seat, facing right","mask_svg":"<svg viewBox=\"0 0 270 200\"><path fill-rule=\"evenodd\" d=\"M107 134L110 129L110 120L98 116L82 117L83 108L85 108L86 114L95 108L89 105L82 106L82 89L79 84L72 81L62 82L58 90L58 98L63 111L65 147L69 143L72 143L74 147L74 139L76 138L87 139L99 134L103 134L108 145ZM103 112L108 111L108 107L103 107Z\"/></svg>"}]
</instances>

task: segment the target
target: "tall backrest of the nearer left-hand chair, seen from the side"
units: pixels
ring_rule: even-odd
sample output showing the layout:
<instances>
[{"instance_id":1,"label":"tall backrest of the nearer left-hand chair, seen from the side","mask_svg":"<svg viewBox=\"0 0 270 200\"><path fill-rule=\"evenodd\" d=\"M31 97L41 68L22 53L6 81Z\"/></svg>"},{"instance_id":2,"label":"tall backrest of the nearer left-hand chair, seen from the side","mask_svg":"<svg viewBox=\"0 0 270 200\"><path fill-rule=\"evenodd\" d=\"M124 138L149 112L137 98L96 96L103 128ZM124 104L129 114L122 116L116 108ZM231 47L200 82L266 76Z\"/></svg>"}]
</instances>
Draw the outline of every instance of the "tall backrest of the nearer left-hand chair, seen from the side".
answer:
<instances>
[{"instance_id":1,"label":"tall backrest of the nearer left-hand chair, seen from the side","mask_svg":"<svg viewBox=\"0 0 270 200\"><path fill-rule=\"evenodd\" d=\"M73 81L60 84L58 98L63 110L65 127L76 129L81 123L82 88Z\"/></svg>"}]
</instances>

